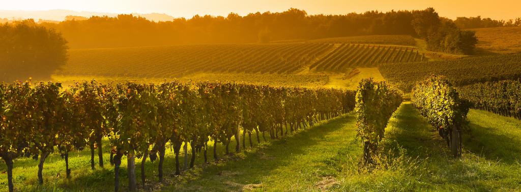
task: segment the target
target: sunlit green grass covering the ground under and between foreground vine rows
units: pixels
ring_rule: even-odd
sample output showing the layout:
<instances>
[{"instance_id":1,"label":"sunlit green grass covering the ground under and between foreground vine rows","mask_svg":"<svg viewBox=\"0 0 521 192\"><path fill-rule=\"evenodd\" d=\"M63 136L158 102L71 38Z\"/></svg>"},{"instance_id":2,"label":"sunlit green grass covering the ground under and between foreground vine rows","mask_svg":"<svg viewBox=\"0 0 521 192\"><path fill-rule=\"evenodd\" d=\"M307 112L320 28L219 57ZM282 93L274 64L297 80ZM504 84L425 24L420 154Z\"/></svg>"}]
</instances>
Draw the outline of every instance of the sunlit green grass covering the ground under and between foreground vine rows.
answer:
<instances>
[{"instance_id":1,"label":"sunlit green grass covering the ground under and between foreground vine rows","mask_svg":"<svg viewBox=\"0 0 521 192\"><path fill-rule=\"evenodd\" d=\"M385 138L374 154L375 164L363 166L362 144L356 138L353 113L320 122L279 139L257 143L218 162L203 163L173 176L172 153L167 150L166 181L157 183L157 161L146 162L145 191L517 191L521 190L521 121L471 110L472 134L465 134L460 159L449 154L446 143L410 102L404 102L389 120ZM262 140L262 136L261 136ZM247 140L246 140L247 141ZM234 142L230 144L233 149ZM72 179L64 179L64 163L57 154L46 160L45 185L51 191L111 191L113 167L90 170L89 152L71 157ZM212 157L209 144L208 156ZM183 158L181 157L181 165ZM210 158L212 159L212 158ZM97 161L97 160L96 160ZM122 191L127 187L126 160L121 165ZM137 179L140 180L137 162ZM0 169L5 170L5 165ZM15 187L19 191L44 191L36 187L36 162L15 161ZM61 174L56 180L56 173ZM0 174L5 182L6 174Z\"/></svg>"}]
</instances>

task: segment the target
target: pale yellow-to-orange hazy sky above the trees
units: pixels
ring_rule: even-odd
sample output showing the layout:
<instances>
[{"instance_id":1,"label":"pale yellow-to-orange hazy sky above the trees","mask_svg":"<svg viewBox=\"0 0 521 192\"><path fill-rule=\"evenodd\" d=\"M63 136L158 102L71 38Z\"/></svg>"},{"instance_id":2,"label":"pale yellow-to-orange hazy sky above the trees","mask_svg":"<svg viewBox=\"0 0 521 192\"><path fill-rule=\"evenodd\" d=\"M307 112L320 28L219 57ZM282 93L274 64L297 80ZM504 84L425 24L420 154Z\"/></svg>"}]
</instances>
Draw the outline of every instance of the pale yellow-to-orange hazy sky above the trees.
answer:
<instances>
[{"instance_id":1,"label":"pale yellow-to-orange hazy sky above the trees","mask_svg":"<svg viewBox=\"0 0 521 192\"><path fill-rule=\"evenodd\" d=\"M413 10L434 7L442 17L490 17L497 20L521 17L521 0L0 0L4 10L96 11L111 13L166 13L174 17L199 15L227 16L230 12L244 16L250 12L281 12L290 7L303 9L310 15L346 14L367 10Z\"/></svg>"}]
</instances>

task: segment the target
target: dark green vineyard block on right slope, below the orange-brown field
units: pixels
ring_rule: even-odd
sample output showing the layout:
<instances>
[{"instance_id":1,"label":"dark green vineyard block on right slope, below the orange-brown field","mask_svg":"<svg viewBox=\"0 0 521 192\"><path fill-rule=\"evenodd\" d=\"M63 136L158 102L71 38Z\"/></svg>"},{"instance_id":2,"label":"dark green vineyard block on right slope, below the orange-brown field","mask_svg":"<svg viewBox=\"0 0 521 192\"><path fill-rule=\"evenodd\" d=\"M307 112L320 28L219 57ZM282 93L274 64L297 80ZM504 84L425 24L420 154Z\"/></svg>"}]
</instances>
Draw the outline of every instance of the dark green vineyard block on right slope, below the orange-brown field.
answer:
<instances>
[{"instance_id":1,"label":"dark green vineyard block on right slope, below the orange-brown field","mask_svg":"<svg viewBox=\"0 0 521 192\"><path fill-rule=\"evenodd\" d=\"M454 86L470 85L494 80L521 78L521 53L494 56L466 57L448 61L414 63L383 63L382 76L408 92L417 81L431 74L444 75Z\"/></svg>"}]
</instances>

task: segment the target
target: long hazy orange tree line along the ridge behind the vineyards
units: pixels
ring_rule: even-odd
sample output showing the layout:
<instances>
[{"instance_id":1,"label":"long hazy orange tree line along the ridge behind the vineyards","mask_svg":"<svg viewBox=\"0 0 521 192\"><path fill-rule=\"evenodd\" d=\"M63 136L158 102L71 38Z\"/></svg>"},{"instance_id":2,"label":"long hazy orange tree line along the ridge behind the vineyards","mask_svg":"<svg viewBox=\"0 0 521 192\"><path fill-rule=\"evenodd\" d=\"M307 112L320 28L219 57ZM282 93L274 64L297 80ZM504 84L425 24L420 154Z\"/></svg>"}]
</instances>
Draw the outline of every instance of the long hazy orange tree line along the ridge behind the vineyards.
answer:
<instances>
[{"instance_id":1,"label":"long hazy orange tree line along the ridge behind the vineyards","mask_svg":"<svg viewBox=\"0 0 521 192\"><path fill-rule=\"evenodd\" d=\"M153 22L143 17L92 16L86 20L42 23L54 28L76 48L163 46L176 44L255 43L269 40L318 39L355 35L413 35L421 10L366 11L346 15L308 15L291 8L246 16L177 18ZM22 22L22 21L19 21ZM35 24L31 21L26 21ZM31 25L31 24L30 24Z\"/></svg>"}]
</instances>

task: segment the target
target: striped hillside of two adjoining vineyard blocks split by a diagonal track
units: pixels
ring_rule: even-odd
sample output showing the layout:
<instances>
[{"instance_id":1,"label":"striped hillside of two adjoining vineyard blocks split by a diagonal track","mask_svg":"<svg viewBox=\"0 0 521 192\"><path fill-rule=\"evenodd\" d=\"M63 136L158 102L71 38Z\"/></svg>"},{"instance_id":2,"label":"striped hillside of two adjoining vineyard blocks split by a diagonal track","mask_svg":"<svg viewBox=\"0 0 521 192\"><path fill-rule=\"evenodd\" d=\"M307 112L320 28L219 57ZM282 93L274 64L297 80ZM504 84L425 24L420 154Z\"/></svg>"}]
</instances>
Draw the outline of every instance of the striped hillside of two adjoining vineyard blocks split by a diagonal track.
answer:
<instances>
[{"instance_id":1,"label":"striped hillside of two adjoining vineyard blocks split by a diagonal track","mask_svg":"<svg viewBox=\"0 0 521 192\"><path fill-rule=\"evenodd\" d=\"M422 61L402 46L324 43L208 44L72 49L59 76L180 78L197 73L350 72L378 63Z\"/></svg>"}]
</instances>

